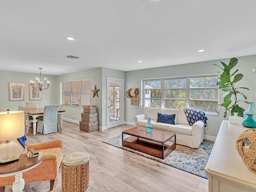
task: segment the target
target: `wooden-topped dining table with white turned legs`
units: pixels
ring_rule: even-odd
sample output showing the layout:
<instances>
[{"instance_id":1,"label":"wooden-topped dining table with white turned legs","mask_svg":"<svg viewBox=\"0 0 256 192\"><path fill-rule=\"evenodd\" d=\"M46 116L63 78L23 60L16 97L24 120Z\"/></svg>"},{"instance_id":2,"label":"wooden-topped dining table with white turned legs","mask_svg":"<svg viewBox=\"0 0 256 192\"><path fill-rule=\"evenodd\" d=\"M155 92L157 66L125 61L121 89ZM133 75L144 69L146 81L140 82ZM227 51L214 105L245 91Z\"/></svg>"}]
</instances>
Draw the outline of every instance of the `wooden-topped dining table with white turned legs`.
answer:
<instances>
[{"instance_id":1,"label":"wooden-topped dining table with white turned legs","mask_svg":"<svg viewBox=\"0 0 256 192\"><path fill-rule=\"evenodd\" d=\"M36 135L36 118L39 116L44 115L44 107L39 107L39 108L30 108L27 109L28 115L33 117L33 134ZM65 110L58 110L58 114L60 115L60 130L62 130L62 122L63 122L63 113Z\"/></svg>"}]
</instances>

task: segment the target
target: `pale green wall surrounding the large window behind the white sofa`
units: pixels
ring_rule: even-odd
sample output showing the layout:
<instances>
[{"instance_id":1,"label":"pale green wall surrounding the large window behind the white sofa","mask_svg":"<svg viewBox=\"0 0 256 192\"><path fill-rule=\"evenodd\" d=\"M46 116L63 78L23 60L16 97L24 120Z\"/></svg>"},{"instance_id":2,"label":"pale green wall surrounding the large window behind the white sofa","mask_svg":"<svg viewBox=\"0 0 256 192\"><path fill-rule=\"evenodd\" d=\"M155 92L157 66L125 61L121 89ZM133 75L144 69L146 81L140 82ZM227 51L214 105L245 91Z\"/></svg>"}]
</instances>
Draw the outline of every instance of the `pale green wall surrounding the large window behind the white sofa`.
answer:
<instances>
[{"instance_id":1,"label":"pale green wall surrounding the large window behind the white sofa","mask_svg":"<svg viewBox=\"0 0 256 192\"><path fill-rule=\"evenodd\" d=\"M237 86L248 87L250 90L243 90L243 93L248 97L248 101L255 102L256 97L256 73L252 72L252 69L256 67L256 58L253 56L237 57L238 64L237 68L239 73L244 74L242 81L237 83ZM230 58L221 59L222 62L228 64ZM175 66L166 66L158 68L150 68L144 70L134 70L125 73L125 87L126 90L129 88L140 88L141 80L144 78L159 78L159 77L174 77L174 76L185 76L185 75L199 75L199 74L216 74L218 68L213 64L220 64L220 60L212 60L206 62L196 62L190 64L180 64ZM140 92L141 94L141 92ZM220 98L223 92L220 92ZM221 98L222 100L222 98ZM241 98L242 100L242 98ZM223 101L223 100L222 100ZM239 103L240 106L245 109L248 108L248 104L244 102ZM221 109L221 108L220 108ZM143 114L141 106L134 106L130 104L130 99L126 97L125 100L125 121L134 122L134 115ZM226 118L228 119L228 118ZM204 130L205 135L217 136L220 124L224 120L223 111L220 115L208 115L208 126Z\"/></svg>"}]
</instances>

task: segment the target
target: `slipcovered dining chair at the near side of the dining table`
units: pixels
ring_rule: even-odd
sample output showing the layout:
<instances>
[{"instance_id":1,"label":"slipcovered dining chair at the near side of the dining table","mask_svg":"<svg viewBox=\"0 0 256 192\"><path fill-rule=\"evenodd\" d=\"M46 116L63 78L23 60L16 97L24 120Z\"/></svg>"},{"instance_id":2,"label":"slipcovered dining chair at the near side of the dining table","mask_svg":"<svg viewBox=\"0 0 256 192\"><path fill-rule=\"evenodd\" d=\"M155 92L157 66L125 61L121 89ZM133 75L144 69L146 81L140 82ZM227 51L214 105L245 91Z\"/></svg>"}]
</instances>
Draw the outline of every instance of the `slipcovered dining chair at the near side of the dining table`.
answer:
<instances>
[{"instance_id":1,"label":"slipcovered dining chair at the near side of the dining table","mask_svg":"<svg viewBox=\"0 0 256 192\"><path fill-rule=\"evenodd\" d=\"M57 132L58 131L57 114L58 114L57 105L45 106L44 119L37 120L37 132L41 134Z\"/></svg>"}]
</instances>

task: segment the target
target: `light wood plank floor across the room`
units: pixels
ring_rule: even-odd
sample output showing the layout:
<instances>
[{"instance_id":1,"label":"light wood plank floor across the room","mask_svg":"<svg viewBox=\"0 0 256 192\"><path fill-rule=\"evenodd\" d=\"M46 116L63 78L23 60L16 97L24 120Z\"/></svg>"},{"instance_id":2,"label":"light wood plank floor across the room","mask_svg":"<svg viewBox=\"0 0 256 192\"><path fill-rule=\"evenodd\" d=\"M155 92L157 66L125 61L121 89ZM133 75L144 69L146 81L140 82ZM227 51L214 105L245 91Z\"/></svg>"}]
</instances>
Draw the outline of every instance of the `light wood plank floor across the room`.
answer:
<instances>
[{"instance_id":1,"label":"light wood plank floor across the room","mask_svg":"<svg viewBox=\"0 0 256 192\"><path fill-rule=\"evenodd\" d=\"M64 140L64 155L84 151L90 154L90 181L86 192L207 192L208 180L172 168L171 166L133 154L103 143L118 136L129 125L104 131L86 133L79 124L63 121L63 129L57 133L36 136L32 128L26 135L27 143L39 143L56 138ZM50 181L25 184L24 192L48 192ZM61 169L52 192L61 192ZM5 192L12 192L6 186Z\"/></svg>"}]
</instances>

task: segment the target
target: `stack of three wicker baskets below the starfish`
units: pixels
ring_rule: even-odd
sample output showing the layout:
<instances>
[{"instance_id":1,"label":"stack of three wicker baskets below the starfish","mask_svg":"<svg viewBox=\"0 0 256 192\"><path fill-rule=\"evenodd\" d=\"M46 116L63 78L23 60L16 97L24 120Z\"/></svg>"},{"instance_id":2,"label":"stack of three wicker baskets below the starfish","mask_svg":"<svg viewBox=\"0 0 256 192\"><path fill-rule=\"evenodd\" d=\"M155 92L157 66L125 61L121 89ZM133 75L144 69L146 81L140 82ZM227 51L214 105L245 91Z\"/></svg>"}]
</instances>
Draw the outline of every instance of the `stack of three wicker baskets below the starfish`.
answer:
<instances>
[{"instance_id":1,"label":"stack of three wicker baskets below the starfish","mask_svg":"<svg viewBox=\"0 0 256 192\"><path fill-rule=\"evenodd\" d=\"M99 130L98 113L96 105L85 105L84 112L81 113L80 130L93 132Z\"/></svg>"}]
</instances>

